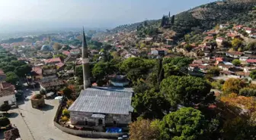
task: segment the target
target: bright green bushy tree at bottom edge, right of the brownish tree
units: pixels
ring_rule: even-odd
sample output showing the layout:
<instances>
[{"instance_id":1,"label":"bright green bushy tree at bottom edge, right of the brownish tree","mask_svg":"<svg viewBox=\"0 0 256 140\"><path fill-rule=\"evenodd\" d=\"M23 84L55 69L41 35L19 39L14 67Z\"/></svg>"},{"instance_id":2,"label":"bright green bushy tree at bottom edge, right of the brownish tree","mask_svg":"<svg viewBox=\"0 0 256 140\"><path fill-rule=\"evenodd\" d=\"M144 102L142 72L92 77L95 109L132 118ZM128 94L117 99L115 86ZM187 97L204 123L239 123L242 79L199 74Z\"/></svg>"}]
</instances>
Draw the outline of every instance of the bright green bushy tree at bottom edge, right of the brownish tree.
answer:
<instances>
[{"instance_id":1,"label":"bright green bushy tree at bottom edge, right of the brownish tree","mask_svg":"<svg viewBox=\"0 0 256 140\"><path fill-rule=\"evenodd\" d=\"M200 110L183 107L160 122L160 138L171 140L205 139L206 119Z\"/></svg>"}]
</instances>

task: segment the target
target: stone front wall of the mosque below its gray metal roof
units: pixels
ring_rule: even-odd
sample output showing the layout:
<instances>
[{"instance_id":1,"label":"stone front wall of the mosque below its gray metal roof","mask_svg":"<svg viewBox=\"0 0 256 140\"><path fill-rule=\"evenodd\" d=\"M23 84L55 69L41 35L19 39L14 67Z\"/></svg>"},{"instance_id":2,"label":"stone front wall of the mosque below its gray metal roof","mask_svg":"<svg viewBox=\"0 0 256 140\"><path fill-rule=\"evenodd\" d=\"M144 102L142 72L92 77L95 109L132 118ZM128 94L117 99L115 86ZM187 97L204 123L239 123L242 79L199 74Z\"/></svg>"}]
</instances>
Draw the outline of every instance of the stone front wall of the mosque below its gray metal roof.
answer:
<instances>
[{"instance_id":1,"label":"stone front wall of the mosque below its gray metal roof","mask_svg":"<svg viewBox=\"0 0 256 140\"><path fill-rule=\"evenodd\" d=\"M85 125L85 121L88 122L89 126L97 126L98 119L91 118L93 113L86 112L70 112L70 120L72 124ZM106 114L105 118L102 119L104 124L113 124L116 121L117 124L128 124L131 122L131 113L129 115L120 115L120 114Z\"/></svg>"}]
</instances>

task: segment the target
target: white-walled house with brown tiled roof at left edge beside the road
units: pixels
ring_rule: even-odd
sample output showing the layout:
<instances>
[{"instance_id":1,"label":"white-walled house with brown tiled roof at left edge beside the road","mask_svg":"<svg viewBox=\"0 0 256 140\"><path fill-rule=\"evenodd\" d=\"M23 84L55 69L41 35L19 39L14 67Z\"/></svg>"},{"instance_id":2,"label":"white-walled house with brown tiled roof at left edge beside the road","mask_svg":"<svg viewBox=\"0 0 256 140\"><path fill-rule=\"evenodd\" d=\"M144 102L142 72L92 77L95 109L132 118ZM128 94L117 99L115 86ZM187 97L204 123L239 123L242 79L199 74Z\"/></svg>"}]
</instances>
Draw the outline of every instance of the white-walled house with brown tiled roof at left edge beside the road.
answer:
<instances>
[{"instance_id":1,"label":"white-walled house with brown tiled roof at left edge beside the road","mask_svg":"<svg viewBox=\"0 0 256 140\"><path fill-rule=\"evenodd\" d=\"M17 105L15 87L8 82L0 82L0 105L8 103L10 105Z\"/></svg>"}]
</instances>

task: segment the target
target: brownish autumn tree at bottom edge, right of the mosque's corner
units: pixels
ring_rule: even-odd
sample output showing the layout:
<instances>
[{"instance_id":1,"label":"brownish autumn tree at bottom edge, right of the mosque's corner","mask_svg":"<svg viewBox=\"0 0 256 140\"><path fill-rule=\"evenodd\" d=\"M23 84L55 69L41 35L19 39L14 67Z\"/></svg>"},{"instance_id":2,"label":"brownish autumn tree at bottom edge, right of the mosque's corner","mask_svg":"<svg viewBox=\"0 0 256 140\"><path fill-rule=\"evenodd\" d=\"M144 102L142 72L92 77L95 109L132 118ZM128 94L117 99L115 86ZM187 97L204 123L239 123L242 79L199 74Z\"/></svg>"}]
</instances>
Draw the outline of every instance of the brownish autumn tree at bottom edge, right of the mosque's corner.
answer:
<instances>
[{"instance_id":1,"label":"brownish autumn tree at bottom edge, right of the mosque's corner","mask_svg":"<svg viewBox=\"0 0 256 140\"><path fill-rule=\"evenodd\" d=\"M130 140L155 140L158 128L150 120L137 120L129 125Z\"/></svg>"}]
</instances>

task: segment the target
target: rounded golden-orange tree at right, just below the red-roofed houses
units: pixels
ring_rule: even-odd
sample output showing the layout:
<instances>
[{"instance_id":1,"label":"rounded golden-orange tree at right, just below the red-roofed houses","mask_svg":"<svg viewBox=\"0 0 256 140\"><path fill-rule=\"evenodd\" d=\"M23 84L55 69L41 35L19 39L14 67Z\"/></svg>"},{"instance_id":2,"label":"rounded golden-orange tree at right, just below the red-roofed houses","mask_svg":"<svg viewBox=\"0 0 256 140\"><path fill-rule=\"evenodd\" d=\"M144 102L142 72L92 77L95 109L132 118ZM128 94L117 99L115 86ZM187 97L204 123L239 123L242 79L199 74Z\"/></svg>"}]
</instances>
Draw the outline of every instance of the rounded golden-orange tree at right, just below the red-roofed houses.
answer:
<instances>
[{"instance_id":1,"label":"rounded golden-orange tree at right, just below the red-roofed houses","mask_svg":"<svg viewBox=\"0 0 256 140\"><path fill-rule=\"evenodd\" d=\"M242 79L230 78L224 82L222 92L224 94L239 93L239 90L245 88L245 86L247 85Z\"/></svg>"}]
</instances>

